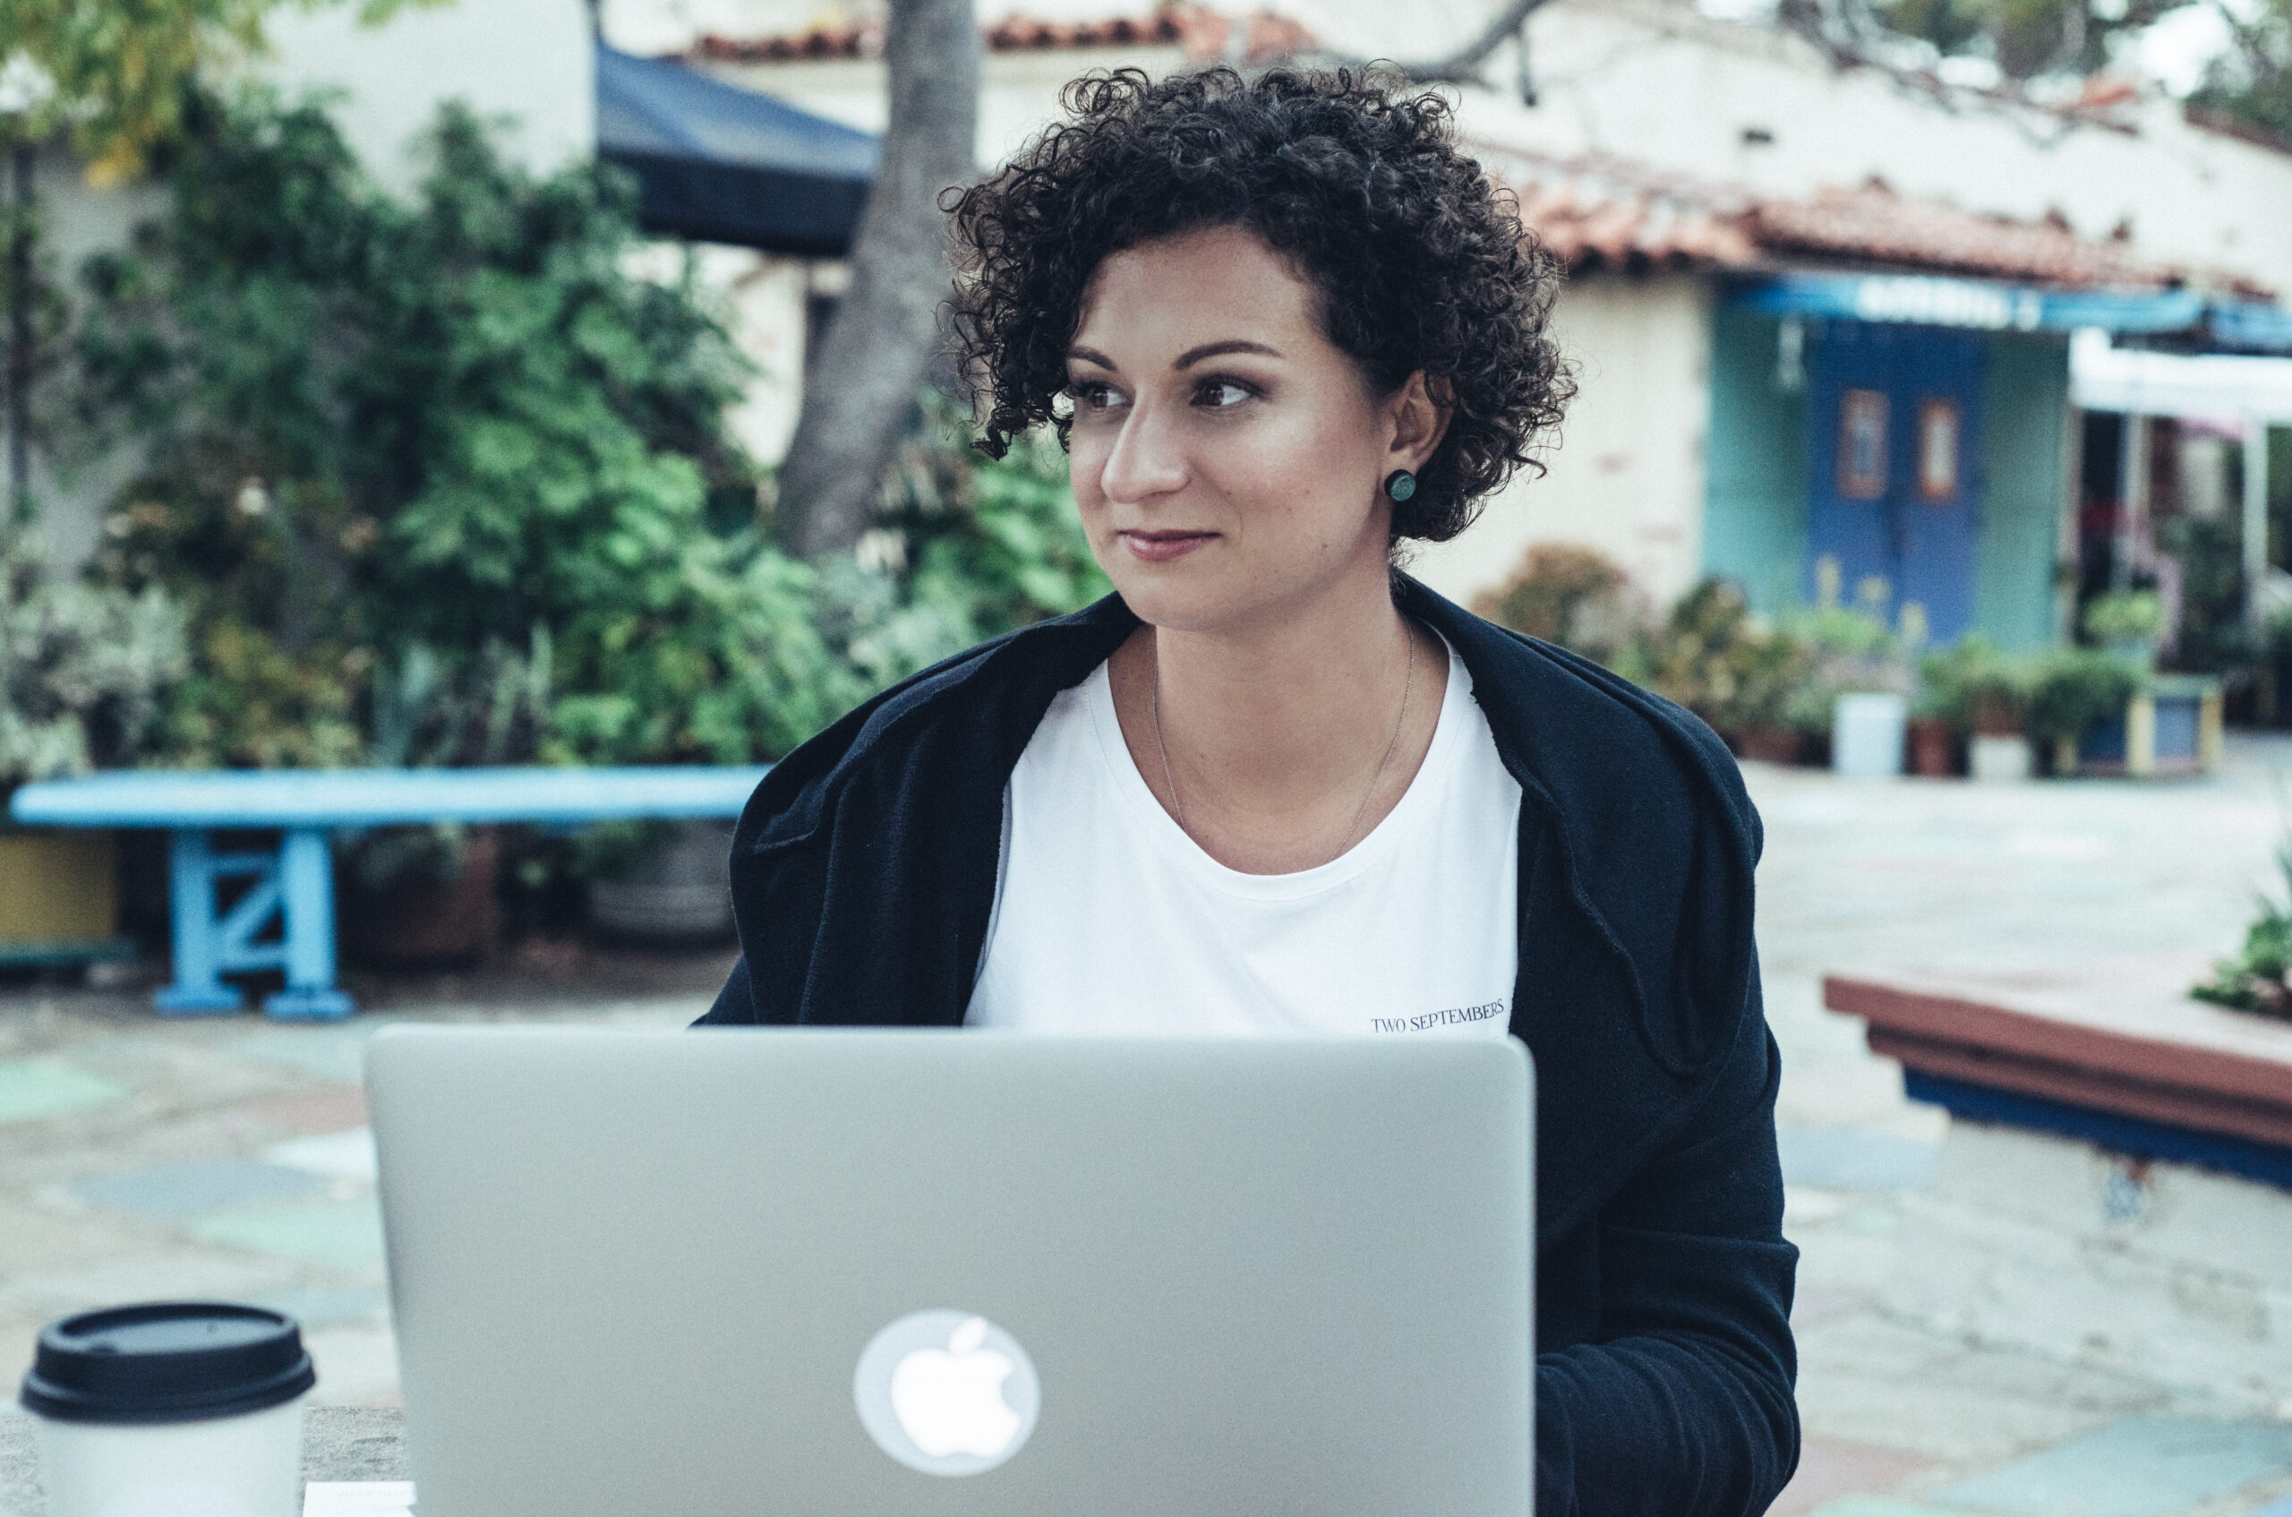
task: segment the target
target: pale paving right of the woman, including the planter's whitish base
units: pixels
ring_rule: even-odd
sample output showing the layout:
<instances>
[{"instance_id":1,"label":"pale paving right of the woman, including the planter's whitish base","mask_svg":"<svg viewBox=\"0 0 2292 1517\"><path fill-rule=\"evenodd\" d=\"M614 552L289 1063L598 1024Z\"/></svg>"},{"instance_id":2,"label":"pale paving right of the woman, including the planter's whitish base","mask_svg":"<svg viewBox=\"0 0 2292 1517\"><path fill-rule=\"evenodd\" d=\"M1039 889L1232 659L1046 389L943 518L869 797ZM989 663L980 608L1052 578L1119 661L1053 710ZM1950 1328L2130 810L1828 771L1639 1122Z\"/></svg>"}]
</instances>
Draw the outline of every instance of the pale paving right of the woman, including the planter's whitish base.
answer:
<instances>
[{"instance_id":1,"label":"pale paving right of the woman, including the planter's whitish base","mask_svg":"<svg viewBox=\"0 0 2292 1517\"><path fill-rule=\"evenodd\" d=\"M1783 1517L2244 1517L2292 1499L2292 1194L1902 1100L1820 976L2193 983L2278 889L2292 742L2203 781L1747 765L1808 1446ZM2285 1515L2292 1517L2292 1508Z\"/></svg>"}]
</instances>

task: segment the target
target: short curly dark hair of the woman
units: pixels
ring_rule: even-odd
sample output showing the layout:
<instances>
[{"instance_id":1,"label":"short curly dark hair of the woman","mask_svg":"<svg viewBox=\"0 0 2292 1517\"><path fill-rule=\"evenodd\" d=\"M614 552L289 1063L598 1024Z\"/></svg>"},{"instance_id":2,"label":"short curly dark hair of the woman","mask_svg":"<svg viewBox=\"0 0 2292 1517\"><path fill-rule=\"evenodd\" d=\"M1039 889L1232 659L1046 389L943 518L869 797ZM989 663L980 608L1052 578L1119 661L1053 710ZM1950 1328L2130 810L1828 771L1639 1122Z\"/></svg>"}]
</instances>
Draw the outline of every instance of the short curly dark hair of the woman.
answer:
<instances>
[{"instance_id":1,"label":"short curly dark hair of the woman","mask_svg":"<svg viewBox=\"0 0 2292 1517\"><path fill-rule=\"evenodd\" d=\"M1458 149L1449 103L1405 80L1137 69L1063 92L1068 119L953 197L956 351L986 392L979 447L1068 417L1066 348L1112 252L1242 227L1320 293L1320 323L1380 394L1423 369L1453 403L1394 539L1442 543L1561 419L1575 383L1545 335L1559 264Z\"/></svg>"}]
</instances>

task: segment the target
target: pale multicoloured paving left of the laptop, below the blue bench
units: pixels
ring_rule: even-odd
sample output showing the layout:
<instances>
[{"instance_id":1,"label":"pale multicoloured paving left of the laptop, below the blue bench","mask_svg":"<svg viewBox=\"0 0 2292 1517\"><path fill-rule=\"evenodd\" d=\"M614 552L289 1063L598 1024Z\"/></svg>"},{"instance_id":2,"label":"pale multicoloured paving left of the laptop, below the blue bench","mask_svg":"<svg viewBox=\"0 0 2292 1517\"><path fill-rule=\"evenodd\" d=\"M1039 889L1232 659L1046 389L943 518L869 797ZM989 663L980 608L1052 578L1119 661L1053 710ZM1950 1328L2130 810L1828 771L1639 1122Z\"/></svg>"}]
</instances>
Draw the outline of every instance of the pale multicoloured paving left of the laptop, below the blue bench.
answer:
<instances>
[{"instance_id":1,"label":"pale multicoloured paving left of the laptop, below the blue bench","mask_svg":"<svg viewBox=\"0 0 2292 1517\"><path fill-rule=\"evenodd\" d=\"M369 981L337 1027L165 1022L147 988L0 990L0 1377L44 1322L138 1299L293 1313L321 1402L394 1402L397 1361L360 1091L392 1020L697 1017L729 951L536 946L474 976Z\"/></svg>"}]
</instances>

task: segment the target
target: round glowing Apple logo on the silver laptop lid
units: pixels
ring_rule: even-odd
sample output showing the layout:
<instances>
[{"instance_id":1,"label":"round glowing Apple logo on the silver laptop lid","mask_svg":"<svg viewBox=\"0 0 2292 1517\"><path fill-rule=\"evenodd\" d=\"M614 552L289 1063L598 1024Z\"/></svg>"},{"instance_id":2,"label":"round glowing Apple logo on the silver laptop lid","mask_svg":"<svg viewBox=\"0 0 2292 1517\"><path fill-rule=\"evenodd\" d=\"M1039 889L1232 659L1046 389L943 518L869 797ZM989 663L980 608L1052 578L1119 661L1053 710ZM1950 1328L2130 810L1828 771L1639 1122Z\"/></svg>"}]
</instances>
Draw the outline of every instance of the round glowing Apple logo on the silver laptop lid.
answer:
<instances>
[{"instance_id":1,"label":"round glowing Apple logo on the silver laptop lid","mask_svg":"<svg viewBox=\"0 0 2292 1517\"><path fill-rule=\"evenodd\" d=\"M917 1311L876 1334L853 1375L859 1423L926 1476L995 1469L1034 1432L1043 1386L1018 1338L967 1311Z\"/></svg>"}]
</instances>

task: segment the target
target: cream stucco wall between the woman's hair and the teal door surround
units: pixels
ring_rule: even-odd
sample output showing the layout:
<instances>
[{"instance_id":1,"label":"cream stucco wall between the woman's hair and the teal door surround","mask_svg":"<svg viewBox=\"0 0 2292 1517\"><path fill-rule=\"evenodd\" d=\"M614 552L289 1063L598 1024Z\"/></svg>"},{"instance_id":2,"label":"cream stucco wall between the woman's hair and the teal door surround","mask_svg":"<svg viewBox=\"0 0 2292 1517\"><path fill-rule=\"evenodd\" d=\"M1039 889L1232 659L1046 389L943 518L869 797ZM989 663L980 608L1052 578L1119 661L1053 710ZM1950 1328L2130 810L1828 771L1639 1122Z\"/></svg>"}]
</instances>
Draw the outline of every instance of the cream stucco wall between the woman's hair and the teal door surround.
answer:
<instances>
[{"instance_id":1,"label":"cream stucco wall between the woman's hair and the teal door surround","mask_svg":"<svg viewBox=\"0 0 2292 1517\"><path fill-rule=\"evenodd\" d=\"M1547 472L1524 470L1462 536L1416 550L1412 573L1451 600L1501 584L1533 543L1614 559L1653 607L1703 573L1710 284L1694 275L1575 280L1552 335L1575 364Z\"/></svg>"}]
</instances>

